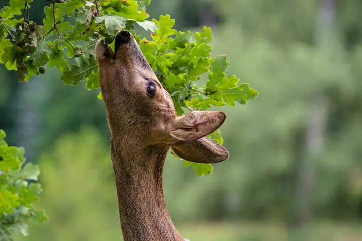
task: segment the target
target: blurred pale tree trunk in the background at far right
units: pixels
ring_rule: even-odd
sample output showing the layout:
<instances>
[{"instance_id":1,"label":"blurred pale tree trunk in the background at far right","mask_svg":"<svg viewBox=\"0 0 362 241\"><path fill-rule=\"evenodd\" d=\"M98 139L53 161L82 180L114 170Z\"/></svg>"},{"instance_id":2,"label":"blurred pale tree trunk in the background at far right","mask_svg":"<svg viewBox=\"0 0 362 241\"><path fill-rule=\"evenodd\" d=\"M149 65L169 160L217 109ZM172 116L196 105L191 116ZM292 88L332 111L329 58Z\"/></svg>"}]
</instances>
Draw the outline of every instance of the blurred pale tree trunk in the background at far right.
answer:
<instances>
[{"instance_id":1,"label":"blurred pale tree trunk in the background at far right","mask_svg":"<svg viewBox=\"0 0 362 241\"><path fill-rule=\"evenodd\" d=\"M316 44L321 54L330 54L334 37L334 0L320 0ZM323 90L322 90L323 92ZM309 122L305 131L305 153L296 164L297 185L295 220L293 226L304 227L313 216L313 189L316 182L315 170L325 145L328 101L323 93L316 93L309 108Z\"/></svg>"}]
</instances>

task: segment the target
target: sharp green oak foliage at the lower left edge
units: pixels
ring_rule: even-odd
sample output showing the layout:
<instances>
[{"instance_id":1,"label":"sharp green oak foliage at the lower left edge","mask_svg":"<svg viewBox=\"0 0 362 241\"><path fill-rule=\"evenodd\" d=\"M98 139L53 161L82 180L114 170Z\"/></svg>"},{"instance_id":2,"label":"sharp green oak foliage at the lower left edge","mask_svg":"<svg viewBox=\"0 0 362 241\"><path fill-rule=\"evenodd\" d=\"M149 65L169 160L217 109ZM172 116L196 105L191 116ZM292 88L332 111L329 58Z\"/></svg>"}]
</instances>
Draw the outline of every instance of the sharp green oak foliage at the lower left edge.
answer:
<instances>
[{"instance_id":1,"label":"sharp green oak foliage at the lower left edge","mask_svg":"<svg viewBox=\"0 0 362 241\"><path fill-rule=\"evenodd\" d=\"M12 240L14 232L28 235L30 221L44 222L48 217L33 207L42 192L36 183L39 167L25 164L24 148L9 146L4 138L0 129L0 240Z\"/></svg>"}]
</instances>

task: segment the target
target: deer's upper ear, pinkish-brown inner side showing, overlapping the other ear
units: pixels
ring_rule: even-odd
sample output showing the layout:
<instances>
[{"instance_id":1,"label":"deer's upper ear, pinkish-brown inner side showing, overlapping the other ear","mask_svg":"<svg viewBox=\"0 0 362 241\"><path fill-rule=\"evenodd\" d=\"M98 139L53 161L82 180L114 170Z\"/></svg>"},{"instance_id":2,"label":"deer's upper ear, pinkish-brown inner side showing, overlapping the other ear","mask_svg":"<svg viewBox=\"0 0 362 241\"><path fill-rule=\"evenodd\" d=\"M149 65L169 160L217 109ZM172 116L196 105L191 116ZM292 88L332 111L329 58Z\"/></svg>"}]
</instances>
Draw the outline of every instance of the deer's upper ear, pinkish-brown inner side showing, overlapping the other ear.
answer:
<instances>
[{"instance_id":1,"label":"deer's upper ear, pinkish-brown inner side showing, overlapping the other ear","mask_svg":"<svg viewBox=\"0 0 362 241\"><path fill-rule=\"evenodd\" d=\"M196 140L216 131L225 118L221 111L193 111L173 120L170 135L177 140Z\"/></svg>"}]
</instances>

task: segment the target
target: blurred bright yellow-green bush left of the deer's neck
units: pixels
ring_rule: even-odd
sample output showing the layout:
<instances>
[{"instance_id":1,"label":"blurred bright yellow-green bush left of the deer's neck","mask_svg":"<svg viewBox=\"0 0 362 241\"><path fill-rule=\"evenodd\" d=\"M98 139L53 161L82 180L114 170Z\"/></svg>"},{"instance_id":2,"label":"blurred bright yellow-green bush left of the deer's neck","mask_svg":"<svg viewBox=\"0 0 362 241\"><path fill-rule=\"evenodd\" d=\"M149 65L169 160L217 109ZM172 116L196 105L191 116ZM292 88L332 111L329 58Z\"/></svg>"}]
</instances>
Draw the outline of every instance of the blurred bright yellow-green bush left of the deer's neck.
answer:
<instances>
[{"instance_id":1,"label":"blurred bright yellow-green bush left of the deer's neck","mask_svg":"<svg viewBox=\"0 0 362 241\"><path fill-rule=\"evenodd\" d=\"M120 239L112 162L101 139L98 130L82 126L44 150L39 158L44 193L37 206L53 218L32 225L30 235L19 239Z\"/></svg>"}]
</instances>

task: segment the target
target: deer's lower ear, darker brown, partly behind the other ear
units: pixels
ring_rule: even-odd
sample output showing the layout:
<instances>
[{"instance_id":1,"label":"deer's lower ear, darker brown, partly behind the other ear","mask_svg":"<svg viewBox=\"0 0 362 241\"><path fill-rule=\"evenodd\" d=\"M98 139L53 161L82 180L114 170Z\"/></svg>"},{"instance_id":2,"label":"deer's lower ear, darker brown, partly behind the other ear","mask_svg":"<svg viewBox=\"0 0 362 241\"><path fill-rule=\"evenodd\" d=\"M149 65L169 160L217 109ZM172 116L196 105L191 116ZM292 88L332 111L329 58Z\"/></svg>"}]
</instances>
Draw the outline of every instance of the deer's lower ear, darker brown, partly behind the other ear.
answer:
<instances>
[{"instance_id":1,"label":"deer's lower ear, darker brown, partly behind the other ear","mask_svg":"<svg viewBox=\"0 0 362 241\"><path fill-rule=\"evenodd\" d=\"M171 148L177 156L190 162L218 163L229 158L225 147L207 137L194 141L177 141Z\"/></svg>"}]
</instances>

